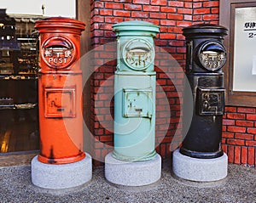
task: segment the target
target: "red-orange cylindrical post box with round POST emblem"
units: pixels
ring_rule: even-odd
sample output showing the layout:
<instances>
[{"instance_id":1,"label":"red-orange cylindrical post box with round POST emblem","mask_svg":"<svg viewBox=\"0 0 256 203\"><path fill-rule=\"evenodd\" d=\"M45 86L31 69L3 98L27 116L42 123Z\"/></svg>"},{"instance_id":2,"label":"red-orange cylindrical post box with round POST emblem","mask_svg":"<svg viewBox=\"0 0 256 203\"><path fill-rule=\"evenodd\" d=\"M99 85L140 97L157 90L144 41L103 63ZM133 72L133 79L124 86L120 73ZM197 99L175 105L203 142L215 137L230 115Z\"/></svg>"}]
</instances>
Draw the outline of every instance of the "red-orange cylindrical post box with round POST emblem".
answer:
<instances>
[{"instance_id":1,"label":"red-orange cylindrical post box with round POST emblem","mask_svg":"<svg viewBox=\"0 0 256 203\"><path fill-rule=\"evenodd\" d=\"M80 35L84 23L54 17L36 22L39 32L38 103L41 151L38 161L80 161L83 152ZM72 134L67 132L72 127Z\"/></svg>"}]
</instances>

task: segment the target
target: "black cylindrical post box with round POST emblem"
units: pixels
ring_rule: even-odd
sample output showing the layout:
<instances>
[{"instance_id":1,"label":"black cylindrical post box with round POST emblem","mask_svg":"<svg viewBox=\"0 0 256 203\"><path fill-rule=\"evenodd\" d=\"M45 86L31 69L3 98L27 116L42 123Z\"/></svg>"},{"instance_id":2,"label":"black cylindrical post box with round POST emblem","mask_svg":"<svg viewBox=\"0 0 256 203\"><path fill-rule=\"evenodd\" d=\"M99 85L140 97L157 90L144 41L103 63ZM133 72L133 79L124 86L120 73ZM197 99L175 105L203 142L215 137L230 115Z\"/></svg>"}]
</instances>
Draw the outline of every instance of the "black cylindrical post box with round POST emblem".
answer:
<instances>
[{"instance_id":1,"label":"black cylindrical post box with round POST emblem","mask_svg":"<svg viewBox=\"0 0 256 203\"><path fill-rule=\"evenodd\" d=\"M221 149L224 114L223 45L227 29L220 25L192 25L186 37L186 76L192 89L195 110L180 152L195 158L217 158ZM186 99L184 98L184 102Z\"/></svg>"}]
</instances>

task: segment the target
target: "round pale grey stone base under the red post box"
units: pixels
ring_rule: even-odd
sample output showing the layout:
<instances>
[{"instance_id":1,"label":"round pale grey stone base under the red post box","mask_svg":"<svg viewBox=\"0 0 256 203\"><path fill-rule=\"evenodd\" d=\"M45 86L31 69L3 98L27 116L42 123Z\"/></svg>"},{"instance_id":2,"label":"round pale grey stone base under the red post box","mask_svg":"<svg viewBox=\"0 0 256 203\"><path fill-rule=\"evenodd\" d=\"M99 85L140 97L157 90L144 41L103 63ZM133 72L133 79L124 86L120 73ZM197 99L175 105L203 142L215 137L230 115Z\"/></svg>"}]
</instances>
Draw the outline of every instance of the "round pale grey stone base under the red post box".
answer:
<instances>
[{"instance_id":1,"label":"round pale grey stone base under the red post box","mask_svg":"<svg viewBox=\"0 0 256 203\"><path fill-rule=\"evenodd\" d=\"M44 189L70 189L92 177L91 156L87 153L82 161L61 165L44 164L35 156L31 166L32 183Z\"/></svg>"}]
</instances>

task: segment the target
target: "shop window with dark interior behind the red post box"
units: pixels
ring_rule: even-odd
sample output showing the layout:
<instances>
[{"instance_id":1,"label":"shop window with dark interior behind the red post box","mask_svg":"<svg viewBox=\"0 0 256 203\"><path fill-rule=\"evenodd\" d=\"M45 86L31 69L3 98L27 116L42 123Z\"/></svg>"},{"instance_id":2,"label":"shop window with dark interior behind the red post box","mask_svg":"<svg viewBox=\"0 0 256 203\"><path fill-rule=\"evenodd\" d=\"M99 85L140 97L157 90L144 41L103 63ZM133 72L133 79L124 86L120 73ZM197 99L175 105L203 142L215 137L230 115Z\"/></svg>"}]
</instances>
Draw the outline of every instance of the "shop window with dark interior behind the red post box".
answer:
<instances>
[{"instance_id":1,"label":"shop window with dark interior behind the red post box","mask_svg":"<svg viewBox=\"0 0 256 203\"><path fill-rule=\"evenodd\" d=\"M0 155L39 149L37 20L77 18L90 25L90 0L3 0L0 8ZM22 5L33 5L22 7ZM81 54L90 48L90 26Z\"/></svg>"}]
</instances>

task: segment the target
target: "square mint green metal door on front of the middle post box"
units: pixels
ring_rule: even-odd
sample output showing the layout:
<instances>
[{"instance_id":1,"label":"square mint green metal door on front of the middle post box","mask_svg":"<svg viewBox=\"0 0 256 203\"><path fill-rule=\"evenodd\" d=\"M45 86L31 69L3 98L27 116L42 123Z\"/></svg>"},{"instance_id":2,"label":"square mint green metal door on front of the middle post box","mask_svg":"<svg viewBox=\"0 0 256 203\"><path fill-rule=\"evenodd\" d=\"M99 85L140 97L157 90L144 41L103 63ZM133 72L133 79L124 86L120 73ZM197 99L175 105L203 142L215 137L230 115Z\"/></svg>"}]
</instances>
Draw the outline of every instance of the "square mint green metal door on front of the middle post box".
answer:
<instances>
[{"instance_id":1,"label":"square mint green metal door on front of the middle post box","mask_svg":"<svg viewBox=\"0 0 256 203\"><path fill-rule=\"evenodd\" d=\"M148 117L153 114L151 88L148 89L123 89L123 116L124 117Z\"/></svg>"}]
</instances>

